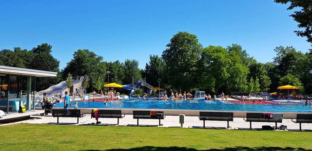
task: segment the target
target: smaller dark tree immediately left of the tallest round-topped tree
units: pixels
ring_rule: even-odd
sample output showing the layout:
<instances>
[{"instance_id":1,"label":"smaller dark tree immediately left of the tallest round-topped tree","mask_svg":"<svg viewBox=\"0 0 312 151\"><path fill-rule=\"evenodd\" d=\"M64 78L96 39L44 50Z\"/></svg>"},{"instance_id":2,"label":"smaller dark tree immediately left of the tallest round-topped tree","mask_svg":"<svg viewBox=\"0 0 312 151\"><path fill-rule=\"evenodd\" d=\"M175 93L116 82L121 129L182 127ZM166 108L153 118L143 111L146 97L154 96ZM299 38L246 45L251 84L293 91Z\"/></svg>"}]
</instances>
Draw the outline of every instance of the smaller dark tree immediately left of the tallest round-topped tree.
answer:
<instances>
[{"instance_id":1,"label":"smaller dark tree immediately left of the tallest round-topped tree","mask_svg":"<svg viewBox=\"0 0 312 151\"><path fill-rule=\"evenodd\" d=\"M164 62L158 55L150 55L150 62L145 65L142 77L151 85L158 85L157 79L161 79L164 70Z\"/></svg>"}]
</instances>

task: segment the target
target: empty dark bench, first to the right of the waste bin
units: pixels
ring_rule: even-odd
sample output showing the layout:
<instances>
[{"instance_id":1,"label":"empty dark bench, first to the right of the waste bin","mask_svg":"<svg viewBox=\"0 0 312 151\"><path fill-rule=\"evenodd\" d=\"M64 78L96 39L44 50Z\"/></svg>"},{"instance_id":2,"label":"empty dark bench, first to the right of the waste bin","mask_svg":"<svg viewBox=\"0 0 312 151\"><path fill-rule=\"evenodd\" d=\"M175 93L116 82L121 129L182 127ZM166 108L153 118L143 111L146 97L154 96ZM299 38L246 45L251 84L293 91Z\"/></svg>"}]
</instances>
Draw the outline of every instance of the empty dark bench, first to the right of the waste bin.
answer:
<instances>
[{"instance_id":1,"label":"empty dark bench, first to the right of the waste bin","mask_svg":"<svg viewBox=\"0 0 312 151\"><path fill-rule=\"evenodd\" d=\"M199 112L199 120L204 120L204 128L205 128L205 120L218 120L218 121L233 121L233 113L230 112Z\"/></svg>"}]
</instances>

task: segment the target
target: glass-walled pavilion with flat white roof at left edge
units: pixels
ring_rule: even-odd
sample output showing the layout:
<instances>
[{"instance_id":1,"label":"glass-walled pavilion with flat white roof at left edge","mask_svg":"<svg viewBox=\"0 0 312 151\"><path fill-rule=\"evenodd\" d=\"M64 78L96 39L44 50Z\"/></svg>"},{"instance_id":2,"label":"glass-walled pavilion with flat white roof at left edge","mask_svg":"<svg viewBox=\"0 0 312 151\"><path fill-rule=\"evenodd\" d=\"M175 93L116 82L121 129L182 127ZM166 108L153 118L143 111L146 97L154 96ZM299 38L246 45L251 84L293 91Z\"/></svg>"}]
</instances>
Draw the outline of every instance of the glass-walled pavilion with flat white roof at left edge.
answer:
<instances>
[{"instance_id":1,"label":"glass-walled pavilion with flat white roof at left edge","mask_svg":"<svg viewBox=\"0 0 312 151\"><path fill-rule=\"evenodd\" d=\"M36 77L56 77L57 72L0 66L0 110L35 109Z\"/></svg>"}]
</instances>

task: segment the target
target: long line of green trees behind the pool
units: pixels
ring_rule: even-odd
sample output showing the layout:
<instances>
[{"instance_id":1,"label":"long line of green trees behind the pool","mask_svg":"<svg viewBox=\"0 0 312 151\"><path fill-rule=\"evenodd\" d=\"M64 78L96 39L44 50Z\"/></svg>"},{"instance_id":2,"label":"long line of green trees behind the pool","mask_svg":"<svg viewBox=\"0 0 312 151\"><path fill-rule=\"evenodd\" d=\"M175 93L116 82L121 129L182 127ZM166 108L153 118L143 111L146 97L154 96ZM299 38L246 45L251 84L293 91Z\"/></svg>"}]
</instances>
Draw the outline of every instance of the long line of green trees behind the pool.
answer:
<instances>
[{"instance_id":1,"label":"long line of green trees behind the pool","mask_svg":"<svg viewBox=\"0 0 312 151\"><path fill-rule=\"evenodd\" d=\"M87 90L107 90L107 83L131 84L145 80L166 91L206 91L207 93L274 92L281 85L299 86L297 93L312 94L312 51L302 53L293 47L274 49L273 62L260 63L238 44L203 47L195 34L178 32L161 56L150 55L144 69L137 60L107 62L90 50L77 50L67 66L59 70L52 46L43 43L32 50L0 51L0 65L58 72L57 78L38 78L36 90L43 90L73 76L88 76ZM109 72L108 72L109 71ZM127 90L120 89L127 94ZM143 90L137 91L142 94Z\"/></svg>"}]
</instances>

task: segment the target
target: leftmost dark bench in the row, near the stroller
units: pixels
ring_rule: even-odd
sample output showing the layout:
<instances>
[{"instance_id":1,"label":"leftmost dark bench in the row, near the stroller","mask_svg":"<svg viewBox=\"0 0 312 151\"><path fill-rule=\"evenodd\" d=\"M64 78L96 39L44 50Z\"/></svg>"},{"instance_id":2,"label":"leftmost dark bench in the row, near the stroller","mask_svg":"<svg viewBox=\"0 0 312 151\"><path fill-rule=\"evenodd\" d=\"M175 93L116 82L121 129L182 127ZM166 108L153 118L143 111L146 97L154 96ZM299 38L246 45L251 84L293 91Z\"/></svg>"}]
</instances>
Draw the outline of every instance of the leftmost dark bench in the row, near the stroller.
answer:
<instances>
[{"instance_id":1,"label":"leftmost dark bench in the row, near the stroller","mask_svg":"<svg viewBox=\"0 0 312 151\"><path fill-rule=\"evenodd\" d=\"M58 123L59 123L59 117L77 117L77 124L79 123L79 117L84 117L84 114L81 115L80 110L74 110L74 109L52 109L52 116L58 117Z\"/></svg>"}]
</instances>

